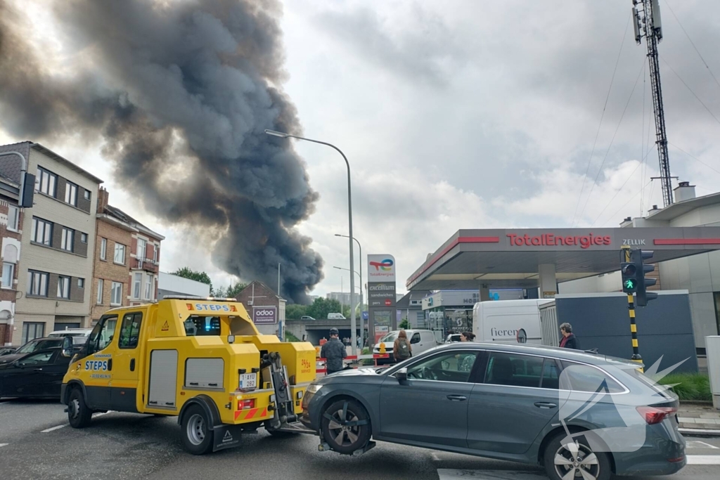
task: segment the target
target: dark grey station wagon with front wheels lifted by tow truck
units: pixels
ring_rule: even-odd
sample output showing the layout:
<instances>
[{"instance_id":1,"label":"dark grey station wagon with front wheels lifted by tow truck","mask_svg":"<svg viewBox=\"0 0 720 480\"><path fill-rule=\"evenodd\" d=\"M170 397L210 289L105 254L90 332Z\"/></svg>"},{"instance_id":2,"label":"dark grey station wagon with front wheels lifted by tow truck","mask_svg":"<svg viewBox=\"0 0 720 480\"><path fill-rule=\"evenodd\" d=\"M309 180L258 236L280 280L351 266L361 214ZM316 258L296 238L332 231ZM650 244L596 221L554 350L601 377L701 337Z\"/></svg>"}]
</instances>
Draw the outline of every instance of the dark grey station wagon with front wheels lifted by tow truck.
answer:
<instances>
[{"instance_id":1,"label":"dark grey station wagon with front wheels lifted by tow truck","mask_svg":"<svg viewBox=\"0 0 720 480\"><path fill-rule=\"evenodd\" d=\"M351 454L371 438L544 466L552 480L673 474L678 399L638 363L561 348L454 343L316 379L301 422Z\"/></svg>"}]
</instances>

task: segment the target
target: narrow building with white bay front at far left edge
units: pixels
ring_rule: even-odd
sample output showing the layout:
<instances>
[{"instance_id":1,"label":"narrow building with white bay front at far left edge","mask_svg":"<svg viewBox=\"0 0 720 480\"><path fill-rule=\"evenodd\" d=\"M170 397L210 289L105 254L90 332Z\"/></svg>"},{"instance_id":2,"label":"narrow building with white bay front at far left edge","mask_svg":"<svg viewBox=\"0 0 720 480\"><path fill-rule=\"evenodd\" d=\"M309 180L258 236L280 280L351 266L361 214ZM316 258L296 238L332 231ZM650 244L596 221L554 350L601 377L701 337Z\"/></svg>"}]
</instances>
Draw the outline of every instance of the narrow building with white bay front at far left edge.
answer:
<instances>
[{"instance_id":1,"label":"narrow building with white bay front at far left edge","mask_svg":"<svg viewBox=\"0 0 720 480\"><path fill-rule=\"evenodd\" d=\"M17 265L20 259L22 212L18 207L19 184L0 174L0 241L2 279L0 281L0 347L12 343Z\"/></svg>"}]
</instances>

